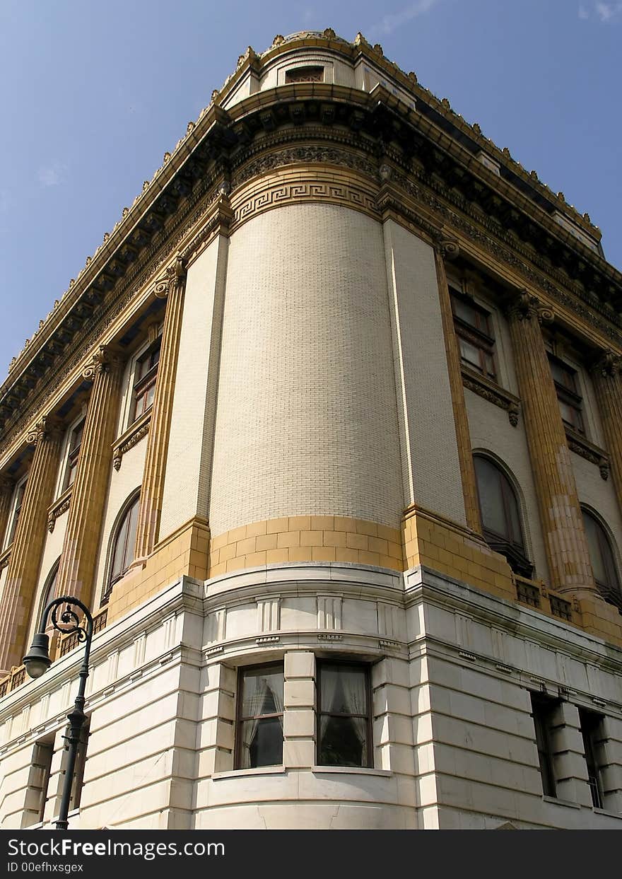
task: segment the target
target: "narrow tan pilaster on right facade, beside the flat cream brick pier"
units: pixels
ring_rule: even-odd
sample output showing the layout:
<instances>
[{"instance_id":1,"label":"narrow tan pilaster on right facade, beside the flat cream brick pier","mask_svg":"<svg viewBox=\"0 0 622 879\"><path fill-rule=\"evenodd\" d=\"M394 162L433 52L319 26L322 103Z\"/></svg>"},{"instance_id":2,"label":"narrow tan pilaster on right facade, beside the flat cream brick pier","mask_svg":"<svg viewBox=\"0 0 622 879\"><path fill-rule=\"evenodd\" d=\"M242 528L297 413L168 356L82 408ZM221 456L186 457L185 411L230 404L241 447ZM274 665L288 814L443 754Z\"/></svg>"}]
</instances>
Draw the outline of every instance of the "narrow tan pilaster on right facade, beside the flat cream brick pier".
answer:
<instances>
[{"instance_id":1,"label":"narrow tan pilaster on right facade, beside the flat cream brick pier","mask_svg":"<svg viewBox=\"0 0 622 879\"><path fill-rule=\"evenodd\" d=\"M452 389L453 420L456 425L456 441L458 443L462 493L465 499L466 524L473 531L476 531L477 534L481 534L480 507L477 502L477 483L475 481L471 433L469 432L468 417L466 415L465 391L462 383L462 370L460 368L460 352L458 338L456 338L453 326L452 301L447 285L445 263L443 261L445 254L452 256L457 251L458 246L456 243L441 241L435 248L434 256L437 265L438 298L443 319L449 384Z\"/></svg>"}]
</instances>

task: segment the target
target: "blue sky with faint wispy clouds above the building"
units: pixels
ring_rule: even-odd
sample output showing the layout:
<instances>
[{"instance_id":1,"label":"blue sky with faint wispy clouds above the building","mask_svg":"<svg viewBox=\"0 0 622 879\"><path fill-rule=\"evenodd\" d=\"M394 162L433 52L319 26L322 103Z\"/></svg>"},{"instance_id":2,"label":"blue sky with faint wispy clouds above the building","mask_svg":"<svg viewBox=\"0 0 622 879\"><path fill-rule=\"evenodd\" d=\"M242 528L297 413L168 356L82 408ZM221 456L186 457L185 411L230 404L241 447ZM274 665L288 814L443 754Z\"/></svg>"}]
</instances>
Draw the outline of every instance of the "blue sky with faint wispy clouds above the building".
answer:
<instances>
[{"instance_id":1,"label":"blue sky with faint wispy clouds above the building","mask_svg":"<svg viewBox=\"0 0 622 879\"><path fill-rule=\"evenodd\" d=\"M0 382L238 55L325 27L415 70L622 268L619 0L1 0Z\"/></svg>"}]
</instances>

